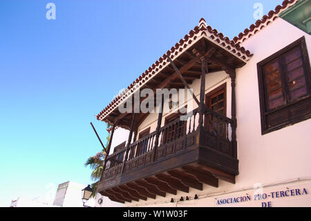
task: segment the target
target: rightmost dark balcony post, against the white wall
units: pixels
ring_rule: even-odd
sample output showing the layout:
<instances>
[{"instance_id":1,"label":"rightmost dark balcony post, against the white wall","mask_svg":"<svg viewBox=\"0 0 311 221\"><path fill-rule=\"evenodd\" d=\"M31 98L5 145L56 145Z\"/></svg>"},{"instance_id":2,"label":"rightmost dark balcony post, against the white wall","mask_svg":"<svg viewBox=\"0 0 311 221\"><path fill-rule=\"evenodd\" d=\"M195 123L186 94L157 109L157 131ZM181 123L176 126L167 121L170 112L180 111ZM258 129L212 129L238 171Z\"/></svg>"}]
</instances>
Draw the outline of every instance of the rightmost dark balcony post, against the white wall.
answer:
<instances>
[{"instance_id":1,"label":"rightmost dark balcony post, against the white wall","mask_svg":"<svg viewBox=\"0 0 311 221\"><path fill-rule=\"evenodd\" d=\"M231 78L231 89L232 89L232 102L231 102L231 115L232 115L232 154L234 158L238 157L237 154L237 142L236 142L236 70L234 69L229 73Z\"/></svg>"}]
</instances>

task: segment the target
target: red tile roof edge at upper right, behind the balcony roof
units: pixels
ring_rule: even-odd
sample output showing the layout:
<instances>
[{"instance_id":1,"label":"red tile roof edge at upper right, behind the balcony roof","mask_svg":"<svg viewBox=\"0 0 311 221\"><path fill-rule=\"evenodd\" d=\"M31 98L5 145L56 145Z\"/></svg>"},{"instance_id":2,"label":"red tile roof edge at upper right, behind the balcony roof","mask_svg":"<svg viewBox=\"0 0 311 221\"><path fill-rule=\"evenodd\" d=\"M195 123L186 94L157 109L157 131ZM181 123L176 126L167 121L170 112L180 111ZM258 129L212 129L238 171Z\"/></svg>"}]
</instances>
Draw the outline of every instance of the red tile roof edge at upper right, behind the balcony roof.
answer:
<instances>
[{"instance_id":1,"label":"red tile roof edge at upper right, behind the balcony roof","mask_svg":"<svg viewBox=\"0 0 311 221\"><path fill-rule=\"evenodd\" d=\"M280 12L286 10L287 8L290 8L290 6L297 3L297 1L299 0L283 1L282 5L276 6L275 10L270 10L268 15L264 15L263 19L257 20L255 24L252 24L251 26L249 26L249 28L246 28L243 33L240 33L238 36L234 37L234 42L236 42L237 44L241 44L249 37L252 37L252 35L256 34L259 30L263 29L265 26L278 18Z\"/></svg>"}]
</instances>

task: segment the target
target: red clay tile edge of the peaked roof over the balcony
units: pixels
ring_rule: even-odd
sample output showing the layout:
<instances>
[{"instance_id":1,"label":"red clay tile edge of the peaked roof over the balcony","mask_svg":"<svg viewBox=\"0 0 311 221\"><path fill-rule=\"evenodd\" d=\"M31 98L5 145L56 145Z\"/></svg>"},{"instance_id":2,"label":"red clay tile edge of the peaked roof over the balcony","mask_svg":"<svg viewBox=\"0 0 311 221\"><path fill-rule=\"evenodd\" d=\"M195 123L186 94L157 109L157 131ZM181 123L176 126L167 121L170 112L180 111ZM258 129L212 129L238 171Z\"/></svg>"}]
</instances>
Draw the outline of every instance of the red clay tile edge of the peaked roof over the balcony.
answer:
<instances>
[{"instance_id":1,"label":"red clay tile edge of the peaked roof over the balcony","mask_svg":"<svg viewBox=\"0 0 311 221\"><path fill-rule=\"evenodd\" d=\"M229 37L224 37L223 33L218 33L218 30L211 28L211 26L206 25L205 19L200 19L199 26L196 26L194 29L190 30L188 35L185 35L183 39L180 39L175 46L171 47L171 50L167 51L162 57L159 58L154 64L149 67L140 77L133 81L133 83L127 87L121 94L106 106L100 114L96 115L97 120L104 121L104 118L108 116L113 110L127 97L131 96L135 90L139 89L144 83L156 76L162 69L167 67L169 62L167 61L167 56L170 56L171 60L174 60L182 53L186 51L194 43L198 42L202 37L209 39L209 41L214 42L221 48L225 49L232 55L236 56L240 60L247 62L252 55L244 47L241 47L239 44L234 43L230 40ZM108 121L106 121L108 122Z\"/></svg>"}]
</instances>

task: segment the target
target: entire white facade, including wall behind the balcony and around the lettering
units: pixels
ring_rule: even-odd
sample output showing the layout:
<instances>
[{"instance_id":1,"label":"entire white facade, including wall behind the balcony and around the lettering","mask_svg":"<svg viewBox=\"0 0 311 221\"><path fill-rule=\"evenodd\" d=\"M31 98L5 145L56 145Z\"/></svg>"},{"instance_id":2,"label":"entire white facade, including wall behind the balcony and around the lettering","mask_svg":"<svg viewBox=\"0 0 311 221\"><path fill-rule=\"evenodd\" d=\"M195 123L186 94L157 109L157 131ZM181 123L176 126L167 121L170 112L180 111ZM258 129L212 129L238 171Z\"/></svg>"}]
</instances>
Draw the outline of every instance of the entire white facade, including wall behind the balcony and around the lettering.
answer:
<instances>
[{"instance_id":1,"label":"entire white facade, including wall behind the balcony and around the lettering","mask_svg":"<svg viewBox=\"0 0 311 221\"><path fill-rule=\"evenodd\" d=\"M189 188L189 193L167 193L166 197L126 202L125 206L311 206L311 119L262 135L257 72L258 62L303 36L310 58L310 35L281 18L241 43L254 55L244 67L236 69L239 160L236 184L219 180L218 188L203 184L203 191ZM205 94L224 83L227 86L227 116L231 117L231 79L225 71L207 74ZM194 80L190 87L199 98L200 80ZM196 108L193 100L192 103ZM162 126L169 114L163 114ZM138 133L148 127L151 132L155 131L157 121L158 114L150 114L138 127ZM127 141L126 132L123 129L115 131L113 146ZM195 195L198 200L194 200ZM180 197L186 199L187 196L189 200L180 202ZM232 199L238 202L233 203ZM241 199L246 201L241 202Z\"/></svg>"}]
</instances>

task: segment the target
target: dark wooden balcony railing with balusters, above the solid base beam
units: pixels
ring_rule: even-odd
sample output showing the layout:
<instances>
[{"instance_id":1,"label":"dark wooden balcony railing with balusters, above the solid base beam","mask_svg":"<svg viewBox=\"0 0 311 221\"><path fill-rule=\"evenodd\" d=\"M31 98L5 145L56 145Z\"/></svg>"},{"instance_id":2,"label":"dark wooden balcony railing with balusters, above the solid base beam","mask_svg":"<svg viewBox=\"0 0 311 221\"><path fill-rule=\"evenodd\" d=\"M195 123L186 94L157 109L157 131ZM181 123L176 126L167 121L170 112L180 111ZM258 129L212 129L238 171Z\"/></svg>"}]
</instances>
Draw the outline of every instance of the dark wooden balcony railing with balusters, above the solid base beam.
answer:
<instances>
[{"instance_id":1,"label":"dark wooden balcony railing with balusters, above the solid base beam","mask_svg":"<svg viewBox=\"0 0 311 221\"><path fill-rule=\"evenodd\" d=\"M198 148L198 109L194 109L187 116L185 121L177 118L160 128L158 146L155 145L157 136L155 131L131 143L127 150L126 159L125 145L121 150L109 155L106 159L103 179L108 180L130 174L150 163L164 161L164 159L182 154L182 152L189 152L194 148ZM227 157L234 157L234 148L236 146L232 143L232 125L234 123L232 119L211 109L205 109L203 116L204 134L202 134L201 147L215 150L227 155Z\"/></svg>"}]
</instances>

